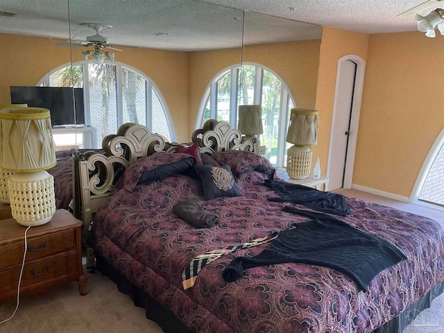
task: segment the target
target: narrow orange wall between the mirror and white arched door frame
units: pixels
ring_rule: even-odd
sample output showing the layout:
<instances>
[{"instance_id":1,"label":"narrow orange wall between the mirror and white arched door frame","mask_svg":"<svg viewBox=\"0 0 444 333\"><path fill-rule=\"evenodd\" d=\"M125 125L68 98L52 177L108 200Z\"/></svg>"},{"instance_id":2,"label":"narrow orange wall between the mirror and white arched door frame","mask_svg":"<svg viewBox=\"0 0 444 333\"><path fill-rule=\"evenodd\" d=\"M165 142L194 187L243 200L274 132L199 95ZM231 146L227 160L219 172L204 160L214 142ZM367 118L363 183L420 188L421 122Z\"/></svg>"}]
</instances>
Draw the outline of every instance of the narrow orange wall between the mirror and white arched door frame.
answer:
<instances>
[{"instance_id":1,"label":"narrow orange wall between the mirror and white arched door frame","mask_svg":"<svg viewBox=\"0 0 444 333\"><path fill-rule=\"evenodd\" d=\"M338 60L348 54L355 54L365 61L368 37L369 35L364 33L323 28L316 92L316 110L319 110L318 144L312 147L314 160L319 157L321 161L321 170L327 169Z\"/></svg>"}]
</instances>

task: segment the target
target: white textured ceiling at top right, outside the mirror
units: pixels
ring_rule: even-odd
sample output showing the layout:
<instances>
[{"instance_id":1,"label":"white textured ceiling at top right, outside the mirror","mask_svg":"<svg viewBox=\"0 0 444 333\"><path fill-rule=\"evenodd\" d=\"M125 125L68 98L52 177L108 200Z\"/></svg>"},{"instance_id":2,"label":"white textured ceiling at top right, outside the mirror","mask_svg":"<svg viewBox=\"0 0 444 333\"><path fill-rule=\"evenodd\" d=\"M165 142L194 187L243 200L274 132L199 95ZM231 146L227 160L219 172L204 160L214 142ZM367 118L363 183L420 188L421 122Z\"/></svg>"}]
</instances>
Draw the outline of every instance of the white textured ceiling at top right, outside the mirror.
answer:
<instances>
[{"instance_id":1,"label":"white textured ceiling at top right, outside the mirror","mask_svg":"<svg viewBox=\"0 0 444 333\"><path fill-rule=\"evenodd\" d=\"M207 3L263 12L268 15L330 26L359 33L398 33L415 31L414 12L397 17L426 0L204 0ZM440 0L418 14L427 15L439 6ZM441 5L441 7L444 6ZM293 10L289 9L293 8Z\"/></svg>"}]
</instances>

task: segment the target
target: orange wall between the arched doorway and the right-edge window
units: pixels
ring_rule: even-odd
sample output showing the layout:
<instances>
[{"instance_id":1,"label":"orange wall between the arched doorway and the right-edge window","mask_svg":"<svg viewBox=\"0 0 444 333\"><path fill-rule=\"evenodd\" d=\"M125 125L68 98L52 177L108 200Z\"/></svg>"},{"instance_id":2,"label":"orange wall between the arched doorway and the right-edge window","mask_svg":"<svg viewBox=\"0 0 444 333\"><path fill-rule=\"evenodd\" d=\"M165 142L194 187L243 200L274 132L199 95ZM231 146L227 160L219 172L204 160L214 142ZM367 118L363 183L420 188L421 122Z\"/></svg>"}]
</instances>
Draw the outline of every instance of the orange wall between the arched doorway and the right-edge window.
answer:
<instances>
[{"instance_id":1,"label":"orange wall between the arched doorway and the right-edge window","mask_svg":"<svg viewBox=\"0 0 444 333\"><path fill-rule=\"evenodd\" d=\"M370 35L353 183L409 197L444 128L444 39Z\"/></svg>"}]
</instances>

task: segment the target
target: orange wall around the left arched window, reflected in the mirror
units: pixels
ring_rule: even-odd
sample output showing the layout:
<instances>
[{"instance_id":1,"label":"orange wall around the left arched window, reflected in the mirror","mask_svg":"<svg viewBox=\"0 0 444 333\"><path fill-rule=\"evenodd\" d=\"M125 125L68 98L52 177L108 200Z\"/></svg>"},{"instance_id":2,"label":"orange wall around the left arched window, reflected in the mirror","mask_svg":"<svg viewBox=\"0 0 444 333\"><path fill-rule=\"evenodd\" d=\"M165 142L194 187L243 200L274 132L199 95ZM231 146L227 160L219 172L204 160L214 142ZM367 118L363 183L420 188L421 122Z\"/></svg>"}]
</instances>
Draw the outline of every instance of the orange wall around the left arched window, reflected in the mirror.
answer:
<instances>
[{"instance_id":1,"label":"orange wall around the left arched window, reflected in the mirror","mask_svg":"<svg viewBox=\"0 0 444 333\"><path fill-rule=\"evenodd\" d=\"M0 34L0 104L10 103L10 85L36 85L52 69L69 63L69 48L42 37ZM189 140L189 53L122 47L116 61L142 71L162 92L176 139ZM73 49L73 62L83 60Z\"/></svg>"}]
</instances>

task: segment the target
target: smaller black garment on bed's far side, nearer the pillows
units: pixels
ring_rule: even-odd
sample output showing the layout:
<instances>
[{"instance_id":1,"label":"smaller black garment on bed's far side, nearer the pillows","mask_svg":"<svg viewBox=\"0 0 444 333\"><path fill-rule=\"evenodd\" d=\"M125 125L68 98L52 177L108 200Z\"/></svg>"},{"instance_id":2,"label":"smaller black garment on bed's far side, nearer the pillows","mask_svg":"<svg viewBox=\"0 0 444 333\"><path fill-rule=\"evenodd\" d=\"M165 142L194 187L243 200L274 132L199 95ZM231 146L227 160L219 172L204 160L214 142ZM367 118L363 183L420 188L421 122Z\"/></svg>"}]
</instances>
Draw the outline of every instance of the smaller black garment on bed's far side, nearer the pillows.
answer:
<instances>
[{"instance_id":1,"label":"smaller black garment on bed's far side, nearer the pillows","mask_svg":"<svg viewBox=\"0 0 444 333\"><path fill-rule=\"evenodd\" d=\"M279 195L277 198L268 198L270 201L299 203L312 210L340 216L350 214L350 208L345 202L345 197L341 194L319 191L318 189L291 184L282 180L266 180L264 185L270 187Z\"/></svg>"}]
</instances>

